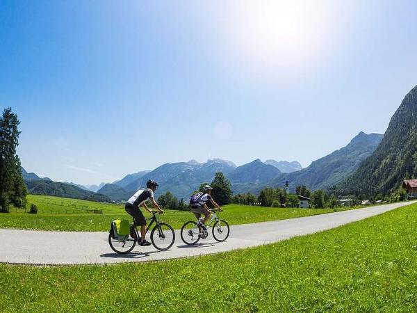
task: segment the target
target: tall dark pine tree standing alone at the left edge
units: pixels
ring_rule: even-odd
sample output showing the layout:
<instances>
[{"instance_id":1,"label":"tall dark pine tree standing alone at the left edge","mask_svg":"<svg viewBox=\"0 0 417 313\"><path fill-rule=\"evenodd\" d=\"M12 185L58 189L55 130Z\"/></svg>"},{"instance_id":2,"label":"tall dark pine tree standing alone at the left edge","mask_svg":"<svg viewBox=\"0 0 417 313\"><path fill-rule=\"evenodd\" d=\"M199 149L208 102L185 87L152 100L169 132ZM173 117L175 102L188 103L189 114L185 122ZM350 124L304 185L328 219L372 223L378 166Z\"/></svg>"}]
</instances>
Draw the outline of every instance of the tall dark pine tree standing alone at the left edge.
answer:
<instances>
[{"instance_id":1,"label":"tall dark pine tree standing alone at the left edge","mask_svg":"<svg viewBox=\"0 0 417 313\"><path fill-rule=\"evenodd\" d=\"M20 122L11 108L0 118L0 211L8 212L10 201L18 206L26 203L26 186L23 183L20 160L16 154L19 145Z\"/></svg>"}]
</instances>

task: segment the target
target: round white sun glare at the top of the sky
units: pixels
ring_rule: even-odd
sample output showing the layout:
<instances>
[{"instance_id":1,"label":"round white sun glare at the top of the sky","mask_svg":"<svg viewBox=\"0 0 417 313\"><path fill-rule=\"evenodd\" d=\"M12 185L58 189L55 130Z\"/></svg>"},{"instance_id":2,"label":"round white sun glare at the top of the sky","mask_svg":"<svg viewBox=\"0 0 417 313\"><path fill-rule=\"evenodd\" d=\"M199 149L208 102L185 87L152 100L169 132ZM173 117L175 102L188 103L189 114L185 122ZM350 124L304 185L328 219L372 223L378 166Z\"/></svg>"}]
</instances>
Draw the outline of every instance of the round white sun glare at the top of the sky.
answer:
<instances>
[{"instance_id":1,"label":"round white sun glare at the top of the sky","mask_svg":"<svg viewBox=\"0 0 417 313\"><path fill-rule=\"evenodd\" d=\"M325 45L325 6L311 1L248 1L232 15L232 41L254 65L302 65Z\"/></svg>"}]
</instances>

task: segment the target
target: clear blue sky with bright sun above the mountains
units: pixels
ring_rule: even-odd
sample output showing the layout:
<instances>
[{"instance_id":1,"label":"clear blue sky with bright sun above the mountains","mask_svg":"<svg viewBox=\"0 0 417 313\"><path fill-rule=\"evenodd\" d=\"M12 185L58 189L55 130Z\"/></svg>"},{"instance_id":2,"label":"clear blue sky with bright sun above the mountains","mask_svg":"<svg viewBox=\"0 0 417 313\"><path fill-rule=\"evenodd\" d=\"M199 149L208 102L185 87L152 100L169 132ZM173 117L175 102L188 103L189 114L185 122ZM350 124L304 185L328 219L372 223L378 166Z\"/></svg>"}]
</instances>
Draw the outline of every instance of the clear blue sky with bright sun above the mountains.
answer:
<instances>
[{"instance_id":1,"label":"clear blue sky with bright sun above the mountains","mask_svg":"<svg viewBox=\"0 0 417 313\"><path fill-rule=\"evenodd\" d=\"M416 1L1 1L26 170L111 182L218 157L306 167L417 84Z\"/></svg>"}]
</instances>

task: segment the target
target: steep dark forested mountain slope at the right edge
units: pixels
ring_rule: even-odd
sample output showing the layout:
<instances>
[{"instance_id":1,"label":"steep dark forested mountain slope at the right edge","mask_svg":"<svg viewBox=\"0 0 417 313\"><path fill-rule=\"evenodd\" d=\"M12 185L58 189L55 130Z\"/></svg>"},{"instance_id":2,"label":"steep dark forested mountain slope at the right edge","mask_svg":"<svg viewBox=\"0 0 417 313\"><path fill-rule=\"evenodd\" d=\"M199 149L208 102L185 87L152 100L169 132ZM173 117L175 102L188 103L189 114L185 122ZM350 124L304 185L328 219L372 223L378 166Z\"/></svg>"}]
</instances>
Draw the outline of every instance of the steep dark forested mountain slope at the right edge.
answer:
<instances>
[{"instance_id":1,"label":"steep dark forested mountain slope at the right edge","mask_svg":"<svg viewBox=\"0 0 417 313\"><path fill-rule=\"evenodd\" d=\"M375 152L338 186L340 193L375 195L417 178L417 86L395 111Z\"/></svg>"}]
</instances>

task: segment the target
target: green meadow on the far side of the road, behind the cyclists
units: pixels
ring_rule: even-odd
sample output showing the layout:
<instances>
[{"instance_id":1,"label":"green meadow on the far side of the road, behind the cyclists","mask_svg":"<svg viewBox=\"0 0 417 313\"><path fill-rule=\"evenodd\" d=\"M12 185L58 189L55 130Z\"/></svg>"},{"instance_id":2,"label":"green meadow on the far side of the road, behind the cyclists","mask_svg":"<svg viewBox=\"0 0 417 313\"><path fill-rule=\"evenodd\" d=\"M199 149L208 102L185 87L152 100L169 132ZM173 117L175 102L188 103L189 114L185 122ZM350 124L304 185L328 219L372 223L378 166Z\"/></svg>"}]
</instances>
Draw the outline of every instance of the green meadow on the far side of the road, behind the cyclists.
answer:
<instances>
[{"instance_id":1,"label":"green meadow on the far side of the road, behind the cyclists","mask_svg":"<svg viewBox=\"0 0 417 313\"><path fill-rule=\"evenodd\" d=\"M28 195L29 204L38 206L38 214L28 214L22 209L12 209L10 214L0 214L0 228L20 228L30 230L108 231L111 220L131 219L122 204L101 204L85 200L56 198L44 195ZM29 207L29 206L28 206ZM93 214L88 210L99 210L103 214ZM17 211L17 212L16 212ZM26 211L28 211L26 209ZM227 205L222 218L231 225L281 220L329 213L332 209L281 209L270 207L250 207ZM145 212L145 216L150 216ZM165 210L161 219L174 228L195 217L190 211Z\"/></svg>"}]
</instances>

